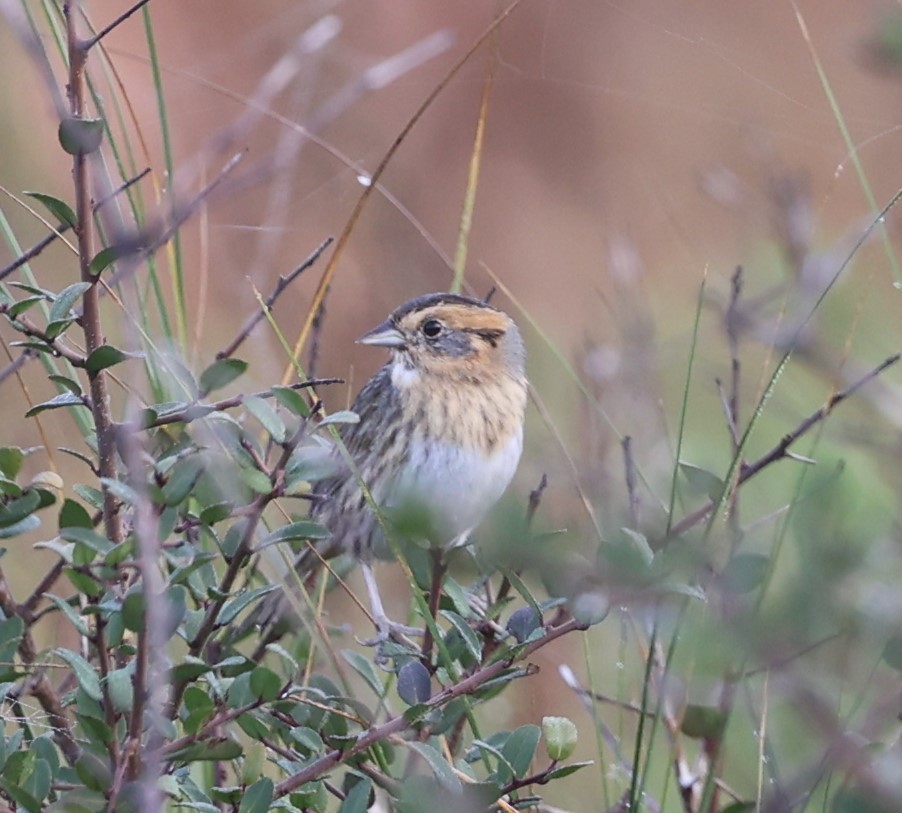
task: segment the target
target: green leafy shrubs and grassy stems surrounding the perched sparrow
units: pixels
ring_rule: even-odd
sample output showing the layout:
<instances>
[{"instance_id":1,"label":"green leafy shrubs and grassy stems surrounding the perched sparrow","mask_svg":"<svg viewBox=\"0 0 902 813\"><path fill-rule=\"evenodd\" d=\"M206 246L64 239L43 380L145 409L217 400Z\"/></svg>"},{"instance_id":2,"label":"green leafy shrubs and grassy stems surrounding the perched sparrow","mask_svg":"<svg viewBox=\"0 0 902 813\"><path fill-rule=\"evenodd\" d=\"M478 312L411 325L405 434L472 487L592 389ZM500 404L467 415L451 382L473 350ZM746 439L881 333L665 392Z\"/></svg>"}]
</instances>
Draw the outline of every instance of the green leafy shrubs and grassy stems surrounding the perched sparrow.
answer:
<instances>
[{"instance_id":1,"label":"green leafy shrubs and grassy stems surrounding the perched sparrow","mask_svg":"<svg viewBox=\"0 0 902 813\"><path fill-rule=\"evenodd\" d=\"M67 24L53 18L47 42ZM146 16L145 25L168 142ZM95 54L79 41L75 55L93 78ZM56 56L47 64L69 64L68 52ZM129 145L109 125L122 100L105 99L78 65L58 78L56 95L68 86L73 105L59 125L73 166L90 168L103 150L97 163L115 165L123 185L137 177L126 172ZM168 146L166 162L171 172ZM65 273L0 290L0 316L21 337L11 346L44 365L46 386L24 417L35 426L73 420L79 448L63 451L82 466L80 482L64 482L50 465L29 476L36 450L0 447L8 545L0 555L30 567L33 544L43 557L34 559L43 570L30 574L36 587L0 573L0 796L8 805L143 811L156 794L173 810L364 813L378 797L405 813L469 813L502 802L535 808L540 792L566 797L569 782L583 780L604 788L611 810L670 809L661 799L703 813L783 809L794 800L781 794L797 785L818 809L898 809L897 757L885 744L895 736L886 709L902 671L898 489L876 485L879 457L856 460L858 450L829 432L827 451L815 442L804 457L790 453L812 427L826 429L857 385L823 408L822 393L809 399L799 388L810 421L786 426L765 408L793 373L795 340L816 329L852 255L742 409L736 324L764 320L740 301L734 278L724 320L731 357L721 361L736 375L739 400L719 399L728 412L721 441L712 440L708 414L689 411L696 390L687 374L677 442L652 438L674 449L663 466L672 477L644 463L634 477L627 454L630 499L621 506L610 478L578 472L588 519L569 532L539 527L540 486L529 510L500 512L478 561L440 579L429 551L415 539L401 545L408 622L422 637L395 634L367 647L355 645L339 613L320 614L326 592L349 588L341 564L331 573L320 567L316 552L333 552L329 533L304 501L339 465L335 433L359 417L324 415L300 368L298 386L249 392L242 386L257 370L233 348L215 356L207 348L202 361L174 350L188 346L190 311L179 236L166 230L191 207L183 212L174 200L157 222L123 194L137 228L113 239L94 192L76 180L75 209L28 193L81 256ZM154 258L164 238L170 288ZM120 331L128 341L108 344L104 336L117 331L97 297L119 276L111 273L117 262L146 283L134 301L117 300L128 309L129 330ZM808 270L794 269L794 278ZM588 411L607 419L593 388L535 327ZM763 437L775 445L756 459L752 441ZM684 459L695 438L704 466ZM839 460L847 453L852 459ZM891 463L895 471L895 456ZM596 479L605 487L593 491ZM643 514L648 494L655 510ZM398 513L399 528L422 535L424 516ZM271 575L278 557L289 578ZM291 599L280 604L283 581ZM577 647L560 644L571 633L582 634L580 677L569 665L579 664ZM523 703L536 685L541 692ZM582 737L557 713L568 703L579 710L574 699L587 708Z\"/></svg>"}]
</instances>

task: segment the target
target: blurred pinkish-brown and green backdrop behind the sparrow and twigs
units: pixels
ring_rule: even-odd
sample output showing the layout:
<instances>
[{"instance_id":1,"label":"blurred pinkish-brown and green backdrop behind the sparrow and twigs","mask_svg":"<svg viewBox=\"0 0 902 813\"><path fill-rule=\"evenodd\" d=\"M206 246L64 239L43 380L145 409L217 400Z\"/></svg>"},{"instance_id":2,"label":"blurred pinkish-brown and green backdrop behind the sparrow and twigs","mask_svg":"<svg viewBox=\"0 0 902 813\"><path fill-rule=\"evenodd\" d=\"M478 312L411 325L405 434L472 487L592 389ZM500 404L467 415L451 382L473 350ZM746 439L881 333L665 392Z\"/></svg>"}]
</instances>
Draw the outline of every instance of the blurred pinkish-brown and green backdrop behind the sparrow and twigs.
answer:
<instances>
[{"instance_id":1,"label":"blurred pinkish-brown and green backdrop behind the sparrow and twigs","mask_svg":"<svg viewBox=\"0 0 902 813\"><path fill-rule=\"evenodd\" d=\"M87 12L99 28L123 7L94 0ZM132 160L151 168L142 185L151 211L191 199L244 152L180 232L194 319L190 346L181 350L198 369L256 307L255 291L271 291L279 275L341 233L366 178L501 9L420 0L152 0L174 177L163 157L141 15L105 40L108 67L97 74L98 90L127 103ZM317 374L349 382L324 393L329 406L344 406L384 361L353 340L399 303L451 284L449 258L490 73L466 284L485 295L497 278L510 295L499 291L493 301L521 323L530 348L541 410L530 414L513 500L522 507L547 474L537 524L566 526L560 544L590 555L594 524L606 537L631 524L620 448L631 436L645 481L639 526L660 534L697 320L682 458L723 476L732 455L716 382L731 371L724 328L737 266L743 293L730 325L742 360L742 420L797 340L750 440L751 458L900 346L896 211L856 250L902 187L900 15L888 0L524 0L442 88L351 235L326 300L315 363ZM51 38L52 26L40 34ZM9 26L0 26L0 65L0 103L8 111L0 184L15 194L37 189L71 200L51 94ZM43 236L28 212L9 199L0 205L21 245ZM116 215L108 217L115 227ZM124 219L120 225L128 226ZM8 244L0 247L0 264L14 256ZM156 261L165 269L171 252ZM324 267L321 260L278 302L275 318L290 340ZM75 279L71 255L58 247L36 268L51 287ZM121 335L129 331L123 324ZM6 341L8 334L0 331ZM246 389L277 381L287 364L265 323L238 355L252 361ZM864 629L877 659L849 663L848 650L819 650L825 674L858 688L880 685L882 675L876 691L886 702L897 677L876 664L881 642L902 621L895 581L902 571L900 375L890 370L818 432L812 454L820 479L790 529L795 544L778 581L785 592L773 609L771 631L785 636L767 645L774 657L789 657L821 634ZM39 377L32 383L46 386ZM38 445L33 422L21 420L27 408L20 391L4 389L6 431L21 445ZM50 444L66 445L67 432L64 418L50 423ZM39 457L30 464L47 468ZM792 498L798 470L780 466L766 484L749 486L750 510L742 514L751 529L748 550L771 550L773 518ZM698 495L684 497L686 510L699 504ZM499 714L513 725L567 713L590 730L557 667L568 662L585 674L594 663L599 685L619 681L609 693L630 699L641 676L624 676L623 661L629 666L638 652L624 646L629 625L619 623L610 619L593 631L586 649L562 642L543 651L541 675L523 689L525 705ZM719 658L708 663L705 656L735 629L708 619L686 630L686 662L719 674ZM632 654L621 658L624 650ZM697 700L710 699L705 680L692 686ZM794 697L784 699L792 705ZM868 736L894 741L896 710L862 705L873 715L865 722L876 726ZM789 763L805 764L816 749L806 751L807 729L797 723L778 724L789 732ZM751 734L745 747L754 747ZM733 775L746 794L757 771L749 753ZM599 759L588 742L583 756ZM597 774L569 781L561 787L578 788L585 799L597 792ZM576 798L565 806L590 809Z\"/></svg>"}]
</instances>

